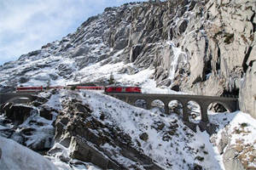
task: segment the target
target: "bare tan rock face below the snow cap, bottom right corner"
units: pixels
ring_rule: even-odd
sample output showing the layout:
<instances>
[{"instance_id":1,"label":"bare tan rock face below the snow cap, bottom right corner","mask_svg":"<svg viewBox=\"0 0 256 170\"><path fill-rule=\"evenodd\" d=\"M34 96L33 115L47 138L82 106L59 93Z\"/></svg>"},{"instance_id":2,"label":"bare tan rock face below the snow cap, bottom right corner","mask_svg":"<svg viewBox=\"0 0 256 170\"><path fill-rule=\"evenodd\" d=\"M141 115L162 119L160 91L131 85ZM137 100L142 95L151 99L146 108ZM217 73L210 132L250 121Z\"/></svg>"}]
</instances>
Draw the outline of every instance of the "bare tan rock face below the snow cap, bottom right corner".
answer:
<instances>
[{"instance_id":1,"label":"bare tan rock face below the snow cap, bottom right corner","mask_svg":"<svg viewBox=\"0 0 256 170\"><path fill-rule=\"evenodd\" d=\"M233 125L234 126L234 125ZM247 123L239 123L238 126L231 127L227 125L221 131L221 137L218 143L214 141L212 136L212 143L218 147L218 152L223 156L224 167L226 170L242 170L254 169L253 162L256 161L256 140L245 141L242 138L236 138L236 135L247 136L250 130L247 129ZM233 140L233 141L232 141Z\"/></svg>"}]
</instances>

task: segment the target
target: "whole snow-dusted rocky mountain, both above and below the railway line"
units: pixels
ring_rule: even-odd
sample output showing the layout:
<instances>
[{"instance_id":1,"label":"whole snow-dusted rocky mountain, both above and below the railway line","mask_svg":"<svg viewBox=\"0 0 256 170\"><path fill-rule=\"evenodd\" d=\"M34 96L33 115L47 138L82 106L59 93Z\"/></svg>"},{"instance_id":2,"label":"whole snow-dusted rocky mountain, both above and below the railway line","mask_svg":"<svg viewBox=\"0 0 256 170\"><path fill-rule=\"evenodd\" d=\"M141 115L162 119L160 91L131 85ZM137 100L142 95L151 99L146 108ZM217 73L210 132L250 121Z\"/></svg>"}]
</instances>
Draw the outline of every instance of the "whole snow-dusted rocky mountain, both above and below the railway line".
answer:
<instances>
[{"instance_id":1,"label":"whole snow-dusted rocky mountain, both above and below the railway line","mask_svg":"<svg viewBox=\"0 0 256 170\"><path fill-rule=\"evenodd\" d=\"M117 84L141 86L143 93L239 96L241 111L256 118L256 86L253 86L256 81L255 13L255 0L150 1L106 8L60 41L50 42L37 51L21 55L16 61L0 65L0 92L14 91L20 85L107 83L113 75ZM44 102L36 104L39 116L32 116L31 124L27 121L23 124L25 127L15 127L26 129L33 125L33 130L17 130L18 133L5 130L5 137L10 136L38 151L42 140L34 139L33 135L44 133L42 139L44 147L50 149L49 159L61 159L74 167L83 157L80 148L94 150L94 155L103 162L111 162L109 166L120 168L123 168L121 165L135 169L149 169L150 166L153 169L256 167L253 163L255 122L245 113L212 113L210 122L217 125L217 132L209 136L199 129L196 132L188 129L189 133L186 133L184 128L187 127L179 116L162 117L154 110L146 113L103 94L88 93L52 91L40 94L46 97ZM108 101L111 105L103 105ZM65 110L59 111L56 105L52 108L55 103ZM31 105L35 106L35 103ZM86 105L83 111L81 105ZM49 110L53 115L49 122L40 116L41 110ZM141 115L134 116L132 111ZM101 115L107 118L101 118ZM122 124L119 119L129 123ZM2 122L6 126L8 121ZM47 125L47 132L42 130L42 123ZM76 126L81 128L73 133ZM85 130L82 127L86 127ZM51 133L52 129L55 134ZM13 135L9 135L10 132ZM81 132L90 134L92 139L87 139ZM33 135L27 137L26 133ZM20 137L24 135L25 139ZM115 141L118 136L121 139ZM102 143L97 143L94 138ZM204 145L196 144L196 141ZM122 142L126 142L128 151ZM193 147L194 150L190 149ZM125 155L126 152L129 154ZM214 156L217 158L213 159ZM82 161L84 165L86 160ZM215 167L212 162L216 162Z\"/></svg>"}]
</instances>

